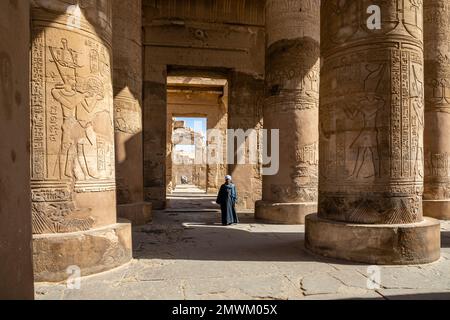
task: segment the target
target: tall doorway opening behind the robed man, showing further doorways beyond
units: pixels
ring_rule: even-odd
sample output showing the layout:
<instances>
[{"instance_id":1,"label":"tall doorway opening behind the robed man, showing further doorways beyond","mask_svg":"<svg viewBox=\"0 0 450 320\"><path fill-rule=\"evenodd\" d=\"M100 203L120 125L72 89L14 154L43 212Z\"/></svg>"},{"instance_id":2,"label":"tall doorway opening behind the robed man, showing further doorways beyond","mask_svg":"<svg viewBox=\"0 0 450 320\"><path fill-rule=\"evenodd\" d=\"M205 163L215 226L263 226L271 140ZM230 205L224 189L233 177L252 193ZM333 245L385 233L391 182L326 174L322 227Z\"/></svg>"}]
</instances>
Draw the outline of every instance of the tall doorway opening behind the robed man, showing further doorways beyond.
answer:
<instances>
[{"instance_id":1,"label":"tall doorway opening behind the robed man, showing further doorways beyond","mask_svg":"<svg viewBox=\"0 0 450 320\"><path fill-rule=\"evenodd\" d=\"M167 208L218 210L227 173L228 80L205 75L167 77Z\"/></svg>"}]
</instances>

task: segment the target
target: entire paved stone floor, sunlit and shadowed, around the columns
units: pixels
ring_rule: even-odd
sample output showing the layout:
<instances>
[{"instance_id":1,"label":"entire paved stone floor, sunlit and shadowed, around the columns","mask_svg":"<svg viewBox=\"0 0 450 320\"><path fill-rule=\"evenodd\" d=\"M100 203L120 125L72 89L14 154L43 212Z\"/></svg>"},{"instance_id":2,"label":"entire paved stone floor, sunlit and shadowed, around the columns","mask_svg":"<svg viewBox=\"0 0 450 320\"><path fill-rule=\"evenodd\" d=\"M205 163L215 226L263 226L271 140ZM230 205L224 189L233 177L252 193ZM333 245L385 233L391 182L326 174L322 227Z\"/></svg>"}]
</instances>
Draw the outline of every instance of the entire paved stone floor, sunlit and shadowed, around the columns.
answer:
<instances>
[{"instance_id":1,"label":"entire paved stone floor, sunlit and shadowed, around the columns","mask_svg":"<svg viewBox=\"0 0 450 320\"><path fill-rule=\"evenodd\" d=\"M82 278L80 289L36 284L36 299L450 299L450 222L438 262L380 267L380 288L369 289L369 266L307 253L303 226L241 214L222 227L213 198L176 194L151 225L134 228L131 263Z\"/></svg>"}]
</instances>

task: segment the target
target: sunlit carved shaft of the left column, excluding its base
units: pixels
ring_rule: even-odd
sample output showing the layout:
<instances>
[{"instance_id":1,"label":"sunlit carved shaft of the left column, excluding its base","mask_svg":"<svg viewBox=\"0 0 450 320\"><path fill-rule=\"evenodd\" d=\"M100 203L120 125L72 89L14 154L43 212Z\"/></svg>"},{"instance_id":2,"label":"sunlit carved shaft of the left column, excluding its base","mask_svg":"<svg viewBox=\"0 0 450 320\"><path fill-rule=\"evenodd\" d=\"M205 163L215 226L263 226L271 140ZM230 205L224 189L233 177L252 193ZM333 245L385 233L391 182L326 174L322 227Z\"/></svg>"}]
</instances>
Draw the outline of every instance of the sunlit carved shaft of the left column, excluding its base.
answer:
<instances>
[{"instance_id":1,"label":"sunlit carved shaft of the left column, excluding its base","mask_svg":"<svg viewBox=\"0 0 450 320\"><path fill-rule=\"evenodd\" d=\"M33 1L34 233L92 228L98 207L111 204L79 199L115 190L111 8L104 0L78 2Z\"/></svg>"}]
</instances>

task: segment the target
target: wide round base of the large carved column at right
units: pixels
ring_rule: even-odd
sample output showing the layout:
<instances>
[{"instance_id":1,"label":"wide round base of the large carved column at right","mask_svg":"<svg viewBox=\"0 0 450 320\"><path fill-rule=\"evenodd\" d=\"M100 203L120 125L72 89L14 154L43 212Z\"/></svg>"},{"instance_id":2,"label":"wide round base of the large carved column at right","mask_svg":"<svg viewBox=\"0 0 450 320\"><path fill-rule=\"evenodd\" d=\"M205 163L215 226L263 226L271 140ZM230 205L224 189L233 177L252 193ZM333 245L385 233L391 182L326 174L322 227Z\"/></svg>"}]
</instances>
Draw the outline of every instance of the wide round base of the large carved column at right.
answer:
<instances>
[{"instance_id":1,"label":"wide round base of the large carved column at right","mask_svg":"<svg viewBox=\"0 0 450 320\"><path fill-rule=\"evenodd\" d=\"M438 260L440 222L362 225L306 217L305 247L321 256L377 265L424 264Z\"/></svg>"}]
</instances>

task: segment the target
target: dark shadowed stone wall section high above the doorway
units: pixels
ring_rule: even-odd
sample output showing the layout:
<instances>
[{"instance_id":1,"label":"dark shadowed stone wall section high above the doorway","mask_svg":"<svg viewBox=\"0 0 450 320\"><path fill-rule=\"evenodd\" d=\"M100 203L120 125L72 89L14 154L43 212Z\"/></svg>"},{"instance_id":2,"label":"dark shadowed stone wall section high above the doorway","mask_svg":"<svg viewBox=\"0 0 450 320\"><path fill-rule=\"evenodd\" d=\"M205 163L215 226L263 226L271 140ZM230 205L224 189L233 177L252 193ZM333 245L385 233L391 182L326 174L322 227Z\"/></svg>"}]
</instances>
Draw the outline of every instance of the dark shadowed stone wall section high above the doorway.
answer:
<instances>
[{"instance_id":1,"label":"dark shadowed stone wall section high above the doorway","mask_svg":"<svg viewBox=\"0 0 450 320\"><path fill-rule=\"evenodd\" d=\"M264 74L264 1L220 2L144 1L146 66Z\"/></svg>"}]
</instances>

